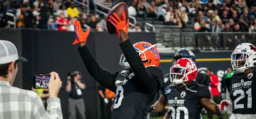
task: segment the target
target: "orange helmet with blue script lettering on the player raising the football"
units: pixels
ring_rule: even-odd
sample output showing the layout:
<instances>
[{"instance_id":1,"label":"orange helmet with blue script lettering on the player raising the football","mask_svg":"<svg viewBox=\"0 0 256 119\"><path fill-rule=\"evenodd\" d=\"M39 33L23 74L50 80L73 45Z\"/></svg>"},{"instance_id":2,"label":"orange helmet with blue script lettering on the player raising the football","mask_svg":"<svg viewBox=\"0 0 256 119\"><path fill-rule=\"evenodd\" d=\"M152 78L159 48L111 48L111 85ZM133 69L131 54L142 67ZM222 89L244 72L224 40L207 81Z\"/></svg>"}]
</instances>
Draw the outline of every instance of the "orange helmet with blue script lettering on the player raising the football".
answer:
<instances>
[{"instance_id":1,"label":"orange helmet with blue script lettering on the player raising the football","mask_svg":"<svg viewBox=\"0 0 256 119\"><path fill-rule=\"evenodd\" d=\"M151 43L141 41L133 44L133 47L139 53L140 58L142 58L145 67L154 66L158 67L160 64L160 55L157 51L156 45Z\"/></svg>"}]
</instances>

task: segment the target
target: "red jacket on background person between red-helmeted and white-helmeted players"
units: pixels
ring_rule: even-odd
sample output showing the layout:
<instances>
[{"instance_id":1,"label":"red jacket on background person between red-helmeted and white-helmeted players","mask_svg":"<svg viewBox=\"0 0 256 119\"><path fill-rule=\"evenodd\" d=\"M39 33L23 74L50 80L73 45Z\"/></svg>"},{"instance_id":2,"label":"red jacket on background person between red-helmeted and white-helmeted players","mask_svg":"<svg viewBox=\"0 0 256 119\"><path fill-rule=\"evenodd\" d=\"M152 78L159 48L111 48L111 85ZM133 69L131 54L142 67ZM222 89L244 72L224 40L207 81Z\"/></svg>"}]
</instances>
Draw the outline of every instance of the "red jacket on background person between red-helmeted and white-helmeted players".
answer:
<instances>
[{"instance_id":1,"label":"red jacket on background person between red-helmeted and white-helmeted players","mask_svg":"<svg viewBox=\"0 0 256 119\"><path fill-rule=\"evenodd\" d=\"M218 90L218 85L219 85L219 79L218 76L215 74L212 74L210 76L211 78L211 92L212 92L212 96L219 96L219 90Z\"/></svg>"}]
</instances>

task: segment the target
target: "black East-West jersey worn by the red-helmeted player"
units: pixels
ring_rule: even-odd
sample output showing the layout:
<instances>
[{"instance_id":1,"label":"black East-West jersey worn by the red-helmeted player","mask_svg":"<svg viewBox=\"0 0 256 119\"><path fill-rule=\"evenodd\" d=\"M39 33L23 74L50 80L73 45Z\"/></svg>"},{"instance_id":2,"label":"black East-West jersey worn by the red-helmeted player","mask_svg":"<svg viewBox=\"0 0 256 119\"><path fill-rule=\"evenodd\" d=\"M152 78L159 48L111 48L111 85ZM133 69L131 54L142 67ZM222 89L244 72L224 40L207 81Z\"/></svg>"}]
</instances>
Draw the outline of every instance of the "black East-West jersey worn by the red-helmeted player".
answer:
<instances>
[{"instance_id":1,"label":"black East-West jersey worn by the red-helmeted player","mask_svg":"<svg viewBox=\"0 0 256 119\"><path fill-rule=\"evenodd\" d=\"M202 98L210 98L210 90L207 86L200 85L196 81L188 83L187 88L196 90L197 93L186 90L185 87L178 89L177 86L167 86L165 97L171 119L199 119L203 106Z\"/></svg>"}]
</instances>

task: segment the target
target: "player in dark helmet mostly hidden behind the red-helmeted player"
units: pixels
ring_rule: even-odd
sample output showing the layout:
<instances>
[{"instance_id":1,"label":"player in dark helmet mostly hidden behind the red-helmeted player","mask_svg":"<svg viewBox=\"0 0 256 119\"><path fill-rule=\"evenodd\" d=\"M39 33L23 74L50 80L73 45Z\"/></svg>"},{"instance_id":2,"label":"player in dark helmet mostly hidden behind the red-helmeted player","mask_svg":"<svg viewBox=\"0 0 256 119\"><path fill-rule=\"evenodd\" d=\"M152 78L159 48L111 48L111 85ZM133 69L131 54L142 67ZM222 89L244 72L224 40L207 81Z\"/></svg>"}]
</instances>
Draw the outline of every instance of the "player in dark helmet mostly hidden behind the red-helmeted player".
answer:
<instances>
[{"instance_id":1,"label":"player in dark helmet mostly hidden behind the red-helmeted player","mask_svg":"<svg viewBox=\"0 0 256 119\"><path fill-rule=\"evenodd\" d=\"M180 48L179 50L177 50L172 57L173 60L173 64L175 61L177 61L180 58L189 58L192 61L196 61L196 56L194 55L194 53L191 50L188 50L187 48ZM209 78L209 76L207 76L205 73L198 73L196 81L201 84L201 85L205 85L205 86L209 86L211 79ZM165 74L164 75L164 85L161 87L161 95L158 99L158 101L156 101L156 103L154 103L149 111L154 111L154 112L160 112L164 109L164 107L166 106L166 98L164 96L165 92L164 89L171 85L171 80L170 80L170 74Z\"/></svg>"}]
</instances>

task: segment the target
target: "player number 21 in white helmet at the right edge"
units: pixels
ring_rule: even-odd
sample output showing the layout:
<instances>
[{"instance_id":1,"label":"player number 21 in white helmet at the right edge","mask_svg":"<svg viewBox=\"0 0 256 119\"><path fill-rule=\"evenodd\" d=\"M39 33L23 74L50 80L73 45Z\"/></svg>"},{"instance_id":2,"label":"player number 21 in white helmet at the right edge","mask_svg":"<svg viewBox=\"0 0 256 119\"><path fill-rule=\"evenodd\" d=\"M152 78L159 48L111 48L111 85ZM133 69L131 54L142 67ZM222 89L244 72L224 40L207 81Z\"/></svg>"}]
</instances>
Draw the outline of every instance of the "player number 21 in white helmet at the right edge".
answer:
<instances>
[{"instance_id":1,"label":"player number 21 in white helmet at the right edge","mask_svg":"<svg viewBox=\"0 0 256 119\"><path fill-rule=\"evenodd\" d=\"M233 73L224 80L227 99L233 103L230 118L256 118L255 49L250 43L242 43L231 54Z\"/></svg>"}]
</instances>

